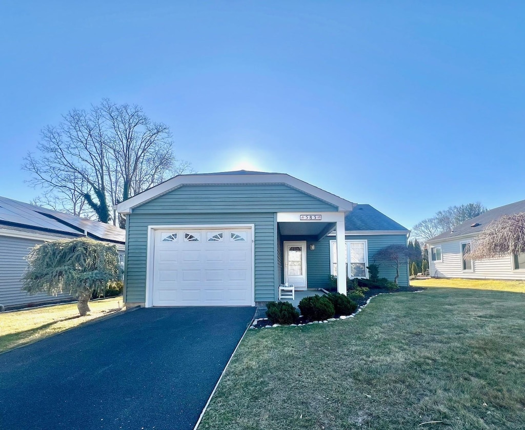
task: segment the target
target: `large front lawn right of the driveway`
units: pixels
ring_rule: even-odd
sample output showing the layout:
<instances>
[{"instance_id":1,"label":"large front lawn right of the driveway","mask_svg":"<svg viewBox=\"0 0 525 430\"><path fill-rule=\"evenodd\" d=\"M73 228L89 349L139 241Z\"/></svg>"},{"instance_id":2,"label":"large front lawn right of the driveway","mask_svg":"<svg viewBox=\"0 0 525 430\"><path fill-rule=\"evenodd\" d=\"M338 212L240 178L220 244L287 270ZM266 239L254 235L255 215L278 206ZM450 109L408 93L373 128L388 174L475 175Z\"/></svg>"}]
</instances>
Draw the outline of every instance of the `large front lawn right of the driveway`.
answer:
<instances>
[{"instance_id":1,"label":"large front lawn right of the driveway","mask_svg":"<svg viewBox=\"0 0 525 430\"><path fill-rule=\"evenodd\" d=\"M430 289L249 330L199 430L524 429L524 314L525 295Z\"/></svg>"}]
</instances>

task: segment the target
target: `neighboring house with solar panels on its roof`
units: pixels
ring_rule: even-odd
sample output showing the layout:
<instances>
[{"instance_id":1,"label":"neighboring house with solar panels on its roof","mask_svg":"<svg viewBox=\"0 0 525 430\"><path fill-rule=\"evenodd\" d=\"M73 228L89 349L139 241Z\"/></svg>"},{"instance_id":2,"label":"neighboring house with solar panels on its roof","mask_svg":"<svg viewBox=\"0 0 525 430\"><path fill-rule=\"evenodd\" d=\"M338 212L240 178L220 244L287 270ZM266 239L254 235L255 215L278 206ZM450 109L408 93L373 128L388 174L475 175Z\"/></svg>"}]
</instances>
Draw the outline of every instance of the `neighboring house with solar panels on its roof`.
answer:
<instances>
[{"instance_id":1,"label":"neighboring house with solar panels on its roof","mask_svg":"<svg viewBox=\"0 0 525 430\"><path fill-rule=\"evenodd\" d=\"M125 230L0 197L0 304L9 309L70 298L67 294L30 296L22 291L25 257L37 244L82 236L117 245L123 264Z\"/></svg>"}]
</instances>

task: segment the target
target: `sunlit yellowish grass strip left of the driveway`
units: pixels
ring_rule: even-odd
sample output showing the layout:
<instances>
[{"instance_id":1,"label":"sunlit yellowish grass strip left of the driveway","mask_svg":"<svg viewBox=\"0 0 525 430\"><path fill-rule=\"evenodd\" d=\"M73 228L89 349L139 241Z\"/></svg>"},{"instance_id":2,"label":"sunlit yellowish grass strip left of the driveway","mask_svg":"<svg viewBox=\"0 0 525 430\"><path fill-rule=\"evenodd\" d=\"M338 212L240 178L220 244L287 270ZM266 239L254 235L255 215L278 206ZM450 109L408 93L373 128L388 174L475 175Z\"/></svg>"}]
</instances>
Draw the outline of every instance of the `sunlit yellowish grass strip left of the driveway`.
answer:
<instances>
[{"instance_id":1,"label":"sunlit yellowish grass strip left of the driveway","mask_svg":"<svg viewBox=\"0 0 525 430\"><path fill-rule=\"evenodd\" d=\"M46 338L118 311L122 296L90 301L91 312L78 314L77 303L0 313L0 353Z\"/></svg>"}]
</instances>

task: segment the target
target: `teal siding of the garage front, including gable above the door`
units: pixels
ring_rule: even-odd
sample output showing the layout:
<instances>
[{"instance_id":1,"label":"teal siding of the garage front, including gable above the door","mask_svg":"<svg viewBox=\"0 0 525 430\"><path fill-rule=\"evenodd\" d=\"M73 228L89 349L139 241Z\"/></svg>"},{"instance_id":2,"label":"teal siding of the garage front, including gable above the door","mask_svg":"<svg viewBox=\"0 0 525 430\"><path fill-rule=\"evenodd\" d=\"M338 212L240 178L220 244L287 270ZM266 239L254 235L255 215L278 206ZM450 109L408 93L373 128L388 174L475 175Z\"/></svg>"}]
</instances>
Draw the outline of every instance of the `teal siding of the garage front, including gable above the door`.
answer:
<instances>
[{"instance_id":1,"label":"teal siding of the garage front, including gable above the door","mask_svg":"<svg viewBox=\"0 0 525 430\"><path fill-rule=\"evenodd\" d=\"M127 215L125 301L145 302L148 226L194 224L254 224L255 301L275 300L282 272L276 213L297 211L337 207L287 185L268 184L185 185L133 208Z\"/></svg>"}]
</instances>

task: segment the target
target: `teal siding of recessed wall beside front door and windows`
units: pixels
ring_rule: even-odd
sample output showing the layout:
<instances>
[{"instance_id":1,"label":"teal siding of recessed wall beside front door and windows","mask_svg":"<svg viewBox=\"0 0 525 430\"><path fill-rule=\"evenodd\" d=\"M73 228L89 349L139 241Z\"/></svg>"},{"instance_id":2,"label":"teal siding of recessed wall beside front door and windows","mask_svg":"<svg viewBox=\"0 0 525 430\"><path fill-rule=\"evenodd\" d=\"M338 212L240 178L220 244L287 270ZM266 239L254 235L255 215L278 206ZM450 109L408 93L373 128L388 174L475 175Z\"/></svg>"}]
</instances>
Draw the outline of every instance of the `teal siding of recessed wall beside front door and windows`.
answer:
<instances>
[{"instance_id":1,"label":"teal siding of recessed wall beside front door and windows","mask_svg":"<svg viewBox=\"0 0 525 430\"><path fill-rule=\"evenodd\" d=\"M330 276L330 240L335 240L335 236L325 236L320 242L307 243L307 270L308 288L327 288ZM366 240L368 245L368 263L374 262L374 255L380 249L392 244L406 245L406 235L362 235L346 236L345 240ZM310 244L315 245L316 249L310 250ZM408 286L408 264L400 267L398 284ZM379 266L379 276L391 281L395 277L395 268L381 263Z\"/></svg>"}]
</instances>

